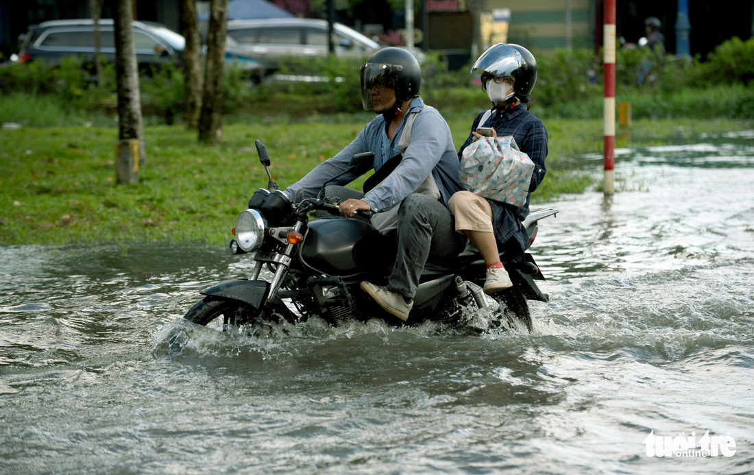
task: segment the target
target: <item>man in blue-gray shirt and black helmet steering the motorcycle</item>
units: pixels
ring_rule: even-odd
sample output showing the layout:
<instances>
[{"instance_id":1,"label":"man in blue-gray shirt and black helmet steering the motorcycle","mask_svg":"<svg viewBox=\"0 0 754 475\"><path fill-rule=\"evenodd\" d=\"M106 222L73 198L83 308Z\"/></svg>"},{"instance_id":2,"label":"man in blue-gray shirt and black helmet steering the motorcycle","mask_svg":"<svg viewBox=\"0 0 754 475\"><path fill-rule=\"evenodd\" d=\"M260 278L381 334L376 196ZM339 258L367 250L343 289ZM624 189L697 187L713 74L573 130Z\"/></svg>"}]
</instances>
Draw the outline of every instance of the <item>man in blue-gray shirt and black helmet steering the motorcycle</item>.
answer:
<instances>
[{"instance_id":1,"label":"man in blue-gray shirt and black helmet steering the motorcycle","mask_svg":"<svg viewBox=\"0 0 754 475\"><path fill-rule=\"evenodd\" d=\"M449 258L464 249L466 241L454 231L447 207L453 193L461 189L458 155L445 119L418 97L421 69L409 51L377 51L361 66L360 86L364 109L373 110L377 117L345 149L284 192L294 202L314 197L325 182L347 169L353 155L375 154L375 177L379 178L372 179L374 187L366 195L342 188L339 196L346 199L339 210L348 217L357 210L372 210L376 213L372 222L380 231L397 230L397 256L387 286L364 281L361 288L385 311L405 321L425 262ZM407 120L413 114L415 118ZM406 123L412 124L410 140L401 153ZM356 178L346 173L330 183L346 185Z\"/></svg>"}]
</instances>

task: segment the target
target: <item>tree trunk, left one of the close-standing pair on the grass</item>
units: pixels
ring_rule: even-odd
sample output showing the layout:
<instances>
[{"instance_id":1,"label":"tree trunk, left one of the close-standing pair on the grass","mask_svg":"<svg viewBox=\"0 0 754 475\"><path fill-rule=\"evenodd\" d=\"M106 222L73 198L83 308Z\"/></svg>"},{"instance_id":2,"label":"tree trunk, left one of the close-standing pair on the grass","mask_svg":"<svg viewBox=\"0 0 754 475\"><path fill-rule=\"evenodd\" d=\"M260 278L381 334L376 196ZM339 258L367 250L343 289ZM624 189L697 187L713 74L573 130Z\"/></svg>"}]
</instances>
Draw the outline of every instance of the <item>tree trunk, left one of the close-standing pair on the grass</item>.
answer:
<instances>
[{"instance_id":1,"label":"tree trunk, left one of the close-standing pair on the grass","mask_svg":"<svg viewBox=\"0 0 754 475\"><path fill-rule=\"evenodd\" d=\"M194 0L181 0L181 33L186 40L183 50L183 89L186 127L195 128L201 109L201 44Z\"/></svg>"}]
</instances>

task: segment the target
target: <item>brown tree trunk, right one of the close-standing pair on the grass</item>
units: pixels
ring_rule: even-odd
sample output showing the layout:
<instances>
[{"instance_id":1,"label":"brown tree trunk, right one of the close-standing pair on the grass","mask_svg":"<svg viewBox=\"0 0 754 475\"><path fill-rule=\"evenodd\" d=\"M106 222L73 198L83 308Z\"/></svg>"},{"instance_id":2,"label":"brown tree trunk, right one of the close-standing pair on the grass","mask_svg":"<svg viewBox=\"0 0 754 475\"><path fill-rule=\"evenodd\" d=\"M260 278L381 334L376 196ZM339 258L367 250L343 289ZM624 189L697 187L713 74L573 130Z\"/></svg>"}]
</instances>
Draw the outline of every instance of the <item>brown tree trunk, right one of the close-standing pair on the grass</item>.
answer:
<instances>
[{"instance_id":1,"label":"brown tree trunk, right one of the close-standing pair on the grass","mask_svg":"<svg viewBox=\"0 0 754 475\"><path fill-rule=\"evenodd\" d=\"M210 1L210 29L207 32L207 69L199 115L199 141L214 143L220 136L222 119L222 68L225 63L225 34L228 30L228 0Z\"/></svg>"}]
</instances>

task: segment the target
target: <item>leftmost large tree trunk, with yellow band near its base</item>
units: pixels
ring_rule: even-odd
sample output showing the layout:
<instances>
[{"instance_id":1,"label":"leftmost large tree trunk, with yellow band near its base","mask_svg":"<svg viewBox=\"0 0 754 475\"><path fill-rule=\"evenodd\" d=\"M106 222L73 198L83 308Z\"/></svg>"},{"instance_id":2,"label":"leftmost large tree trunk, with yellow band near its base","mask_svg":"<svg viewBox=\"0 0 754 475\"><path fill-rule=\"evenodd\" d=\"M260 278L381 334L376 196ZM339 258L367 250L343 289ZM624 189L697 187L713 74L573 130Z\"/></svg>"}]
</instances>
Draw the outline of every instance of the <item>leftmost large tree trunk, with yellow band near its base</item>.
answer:
<instances>
[{"instance_id":1,"label":"leftmost large tree trunk, with yellow band near its base","mask_svg":"<svg viewBox=\"0 0 754 475\"><path fill-rule=\"evenodd\" d=\"M130 0L117 0L115 17L115 76L118 83L118 139L138 140L136 164L146 164L144 132L142 128L139 71L136 67L136 48L133 45L133 26ZM136 169L138 170L138 168ZM120 178L120 175L118 175Z\"/></svg>"}]
</instances>

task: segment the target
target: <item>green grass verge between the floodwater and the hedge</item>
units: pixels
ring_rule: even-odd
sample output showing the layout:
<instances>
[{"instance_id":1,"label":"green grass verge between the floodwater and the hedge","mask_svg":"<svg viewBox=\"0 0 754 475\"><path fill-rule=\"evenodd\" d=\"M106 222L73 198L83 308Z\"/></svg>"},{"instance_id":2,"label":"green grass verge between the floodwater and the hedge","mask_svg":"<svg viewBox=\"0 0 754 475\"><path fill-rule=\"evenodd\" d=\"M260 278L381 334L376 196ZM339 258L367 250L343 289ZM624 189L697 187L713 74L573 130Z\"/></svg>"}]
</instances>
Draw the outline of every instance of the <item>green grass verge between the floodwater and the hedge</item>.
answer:
<instances>
[{"instance_id":1,"label":"green grass verge between the floodwater and the hedge","mask_svg":"<svg viewBox=\"0 0 754 475\"><path fill-rule=\"evenodd\" d=\"M455 145L471 115L451 118ZM361 118L361 116L358 116ZM0 131L0 244L203 241L222 244L236 216L267 184L254 140L268 149L281 188L347 145L363 121L232 124L218 146L201 146L181 126L145 127L139 185L116 185L115 128L22 127ZM546 122L548 173L535 202L595 188L578 158L602 150L601 121ZM750 129L742 121L635 121L630 144L693 139L701 131ZM357 182L356 185L360 185Z\"/></svg>"}]
</instances>

